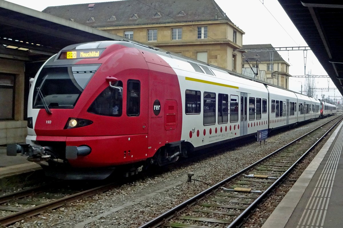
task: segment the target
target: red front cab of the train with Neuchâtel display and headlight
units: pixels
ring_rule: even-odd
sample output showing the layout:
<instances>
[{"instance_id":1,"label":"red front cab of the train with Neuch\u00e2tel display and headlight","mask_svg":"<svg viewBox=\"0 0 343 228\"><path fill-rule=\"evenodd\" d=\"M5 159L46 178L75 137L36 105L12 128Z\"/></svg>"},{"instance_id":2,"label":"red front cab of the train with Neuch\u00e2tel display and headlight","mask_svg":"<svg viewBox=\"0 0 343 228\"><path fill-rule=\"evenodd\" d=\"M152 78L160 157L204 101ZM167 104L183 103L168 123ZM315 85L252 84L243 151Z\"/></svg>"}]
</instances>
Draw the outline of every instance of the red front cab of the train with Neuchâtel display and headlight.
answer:
<instances>
[{"instance_id":1,"label":"red front cab of the train with Neuch\u00e2tel display and headlight","mask_svg":"<svg viewBox=\"0 0 343 228\"><path fill-rule=\"evenodd\" d=\"M81 48L90 46L91 51ZM96 48L102 51L97 58L65 59L62 50L33 81L26 145L29 159L51 167L48 175L101 179L113 172L111 167L148 157L147 63L129 42L76 44L65 52L94 53Z\"/></svg>"}]
</instances>

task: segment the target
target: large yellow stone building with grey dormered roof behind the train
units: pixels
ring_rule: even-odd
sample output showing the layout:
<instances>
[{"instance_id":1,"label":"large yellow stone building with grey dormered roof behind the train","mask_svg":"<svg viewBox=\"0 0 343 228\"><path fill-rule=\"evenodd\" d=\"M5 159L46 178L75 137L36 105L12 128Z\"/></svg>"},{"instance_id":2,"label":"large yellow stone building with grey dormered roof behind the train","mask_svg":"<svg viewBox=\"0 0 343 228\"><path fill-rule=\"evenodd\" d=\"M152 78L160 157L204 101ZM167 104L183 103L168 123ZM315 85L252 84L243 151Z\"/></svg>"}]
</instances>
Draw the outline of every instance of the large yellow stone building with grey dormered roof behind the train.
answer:
<instances>
[{"instance_id":1,"label":"large yellow stone building with grey dormered roof behind the train","mask_svg":"<svg viewBox=\"0 0 343 228\"><path fill-rule=\"evenodd\" d=\"M244 31L214 0L51 6L42 12L241 73Z\"/></svg>"}]
</instances>

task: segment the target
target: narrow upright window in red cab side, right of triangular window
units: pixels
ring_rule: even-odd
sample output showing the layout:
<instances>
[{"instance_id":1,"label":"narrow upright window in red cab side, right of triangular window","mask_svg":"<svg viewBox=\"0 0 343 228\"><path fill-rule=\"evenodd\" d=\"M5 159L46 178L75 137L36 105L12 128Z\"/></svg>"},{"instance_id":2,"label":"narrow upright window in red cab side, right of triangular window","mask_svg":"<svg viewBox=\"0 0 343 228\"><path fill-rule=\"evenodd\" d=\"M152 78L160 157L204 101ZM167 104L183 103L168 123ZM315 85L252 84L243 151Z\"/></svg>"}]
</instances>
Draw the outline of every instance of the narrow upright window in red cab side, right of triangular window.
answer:
<instances>
[{"instance_id":1,"label":"narrow upright window in red cab side, right of triangular window","mask_svg":"<svg viewBox=\"0 0 343 228\"><path fill-rule=\"evenodd\" d=\"M126 115L139 116L141 103L141 83L138 80L128 80L126 94Z\"/></svg>"}]
</instances>

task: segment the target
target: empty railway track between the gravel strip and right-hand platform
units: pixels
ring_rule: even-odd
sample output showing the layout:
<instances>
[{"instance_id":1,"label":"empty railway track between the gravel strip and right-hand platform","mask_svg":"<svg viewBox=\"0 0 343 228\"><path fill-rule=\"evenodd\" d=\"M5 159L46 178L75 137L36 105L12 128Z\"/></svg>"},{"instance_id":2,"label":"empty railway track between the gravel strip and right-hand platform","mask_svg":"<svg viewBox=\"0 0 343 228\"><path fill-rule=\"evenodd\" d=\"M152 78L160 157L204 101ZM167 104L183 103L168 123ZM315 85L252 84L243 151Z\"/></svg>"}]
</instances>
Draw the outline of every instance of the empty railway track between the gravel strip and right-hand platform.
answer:
<instances>
[{"instance_id":1,"label":"empty railway track between the gravel strip and right-hand platform","mask_svg":"<svg viewBox=\"0 0 343 228\"><path fill-rule=\"evenodd\" d=\"M342 119L338 116L324 123L139 228L241 226L297 163Z\"/></svg>"}]
</instances>

